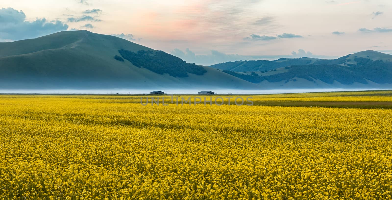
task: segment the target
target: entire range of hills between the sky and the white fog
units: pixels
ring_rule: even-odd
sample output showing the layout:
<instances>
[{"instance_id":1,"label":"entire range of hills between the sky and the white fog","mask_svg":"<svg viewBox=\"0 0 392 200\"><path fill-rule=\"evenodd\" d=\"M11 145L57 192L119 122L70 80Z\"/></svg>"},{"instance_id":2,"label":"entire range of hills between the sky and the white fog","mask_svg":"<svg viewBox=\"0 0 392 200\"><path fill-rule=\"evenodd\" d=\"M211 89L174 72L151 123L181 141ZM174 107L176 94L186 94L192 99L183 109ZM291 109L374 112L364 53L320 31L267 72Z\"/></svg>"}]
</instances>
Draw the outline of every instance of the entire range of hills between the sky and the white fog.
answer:
<instances>
[{"instance_id":1,"label":"entire range of hills between the sky and the white fog","mask_svg":"<svg viewBox=\"0 0 392 200\"><path fill-rule=\"evenodd\" d=\"M110 35L62 31L0 43L0 89L276 89L392 86L392 55L280 58L210 67ZM218 70L217 70L218 69Z\"/></svg>"}]
</instances>

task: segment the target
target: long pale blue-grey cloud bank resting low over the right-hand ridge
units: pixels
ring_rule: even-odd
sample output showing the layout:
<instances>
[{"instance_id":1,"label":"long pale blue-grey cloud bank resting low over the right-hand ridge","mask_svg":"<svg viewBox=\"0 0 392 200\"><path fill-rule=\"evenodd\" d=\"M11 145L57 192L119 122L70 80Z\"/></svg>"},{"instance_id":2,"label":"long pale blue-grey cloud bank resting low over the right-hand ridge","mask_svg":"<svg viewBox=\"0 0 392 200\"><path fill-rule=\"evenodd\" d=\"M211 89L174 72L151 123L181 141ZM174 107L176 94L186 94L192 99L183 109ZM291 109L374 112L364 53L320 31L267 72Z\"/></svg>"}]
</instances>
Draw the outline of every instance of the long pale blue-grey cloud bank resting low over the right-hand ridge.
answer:
<instances>
[{"instance_id":1,"label":"long pale blue-grey cloud bank resting low over the right-hand ridge","mask_svg":"<svg viewBox=\"0 0 392 200\"><path fill-rule=\"evenodd\" d=\"M236 60L276 60L279 58L299 58L299 57L317 57L317 58L337 58L336 56L323 56L313 55L309 51L305 53L304 50L298 50L298 53L293 51L292 55L238 55L238 54L225 54L216 50L211 50L207 55L196 55L188 48L184 51L174 49L170 52L172 55L187 61L188 63L196 63L200 65L214 65L223 62L234 62Z\"/></svg>"}]
</instances>

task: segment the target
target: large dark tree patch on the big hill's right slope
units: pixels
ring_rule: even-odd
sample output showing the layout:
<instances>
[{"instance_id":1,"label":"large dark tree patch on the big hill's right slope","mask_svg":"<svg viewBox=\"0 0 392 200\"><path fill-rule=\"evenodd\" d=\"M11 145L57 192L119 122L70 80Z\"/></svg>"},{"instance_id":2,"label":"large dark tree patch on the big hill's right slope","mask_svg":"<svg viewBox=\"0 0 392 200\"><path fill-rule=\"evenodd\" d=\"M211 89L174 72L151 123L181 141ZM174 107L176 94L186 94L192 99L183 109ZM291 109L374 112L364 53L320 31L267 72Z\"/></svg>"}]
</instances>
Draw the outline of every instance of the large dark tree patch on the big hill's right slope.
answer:
<instances>
[{"instance_id":1,"label":"large dark tree patch on the big hill's right slope","mask_svg":"<svg viewBox=\"0 0 392 200\"><path fill-rule=\"evenodd\" d=\"M125 60L136 67L144 67L158 74L167 73L174 77L187 77L187 72L196 75L203 75L207 72L199 65L186 63L180 58L163 51L140 50L135 53L120 49L118 52Z\"/></svg>"}]
</instances>

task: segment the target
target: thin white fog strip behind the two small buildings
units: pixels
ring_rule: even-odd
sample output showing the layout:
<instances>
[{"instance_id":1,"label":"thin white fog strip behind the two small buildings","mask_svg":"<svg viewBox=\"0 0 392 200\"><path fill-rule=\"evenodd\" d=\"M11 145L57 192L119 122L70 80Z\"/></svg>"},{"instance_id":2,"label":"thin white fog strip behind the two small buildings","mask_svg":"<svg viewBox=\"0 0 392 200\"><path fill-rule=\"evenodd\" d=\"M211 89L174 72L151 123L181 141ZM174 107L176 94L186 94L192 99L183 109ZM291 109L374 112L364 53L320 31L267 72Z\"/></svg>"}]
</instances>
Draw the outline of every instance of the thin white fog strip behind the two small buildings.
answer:
<instances>
[{"instance_id":1,"label":"thin white fog strip behind the two small buildings","mask_svg":"<svg viewBox=\"0 0 392 200\"><path fill-rule=\"evenodd\" d=\"M385 88L320 88L320 89L267 89L267 90L240 90L240 89L155 89L167 94L197 94L200 91L213 91L217 94L283 94L283 93L313 93L338 91L368 91L385 90ZM0 89L2 94L149 94L151 89Z\"/></svg>"}]
</instances>

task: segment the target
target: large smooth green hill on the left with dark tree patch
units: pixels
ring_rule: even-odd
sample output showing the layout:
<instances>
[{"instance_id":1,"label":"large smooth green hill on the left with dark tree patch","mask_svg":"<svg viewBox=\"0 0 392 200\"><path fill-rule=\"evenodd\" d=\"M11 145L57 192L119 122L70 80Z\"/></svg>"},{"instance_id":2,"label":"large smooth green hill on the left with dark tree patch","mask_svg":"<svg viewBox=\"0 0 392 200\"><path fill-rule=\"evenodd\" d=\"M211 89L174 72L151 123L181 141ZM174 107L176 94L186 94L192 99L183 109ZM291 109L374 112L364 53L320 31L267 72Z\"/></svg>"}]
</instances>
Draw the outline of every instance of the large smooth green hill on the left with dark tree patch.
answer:
<instances>
[{"instance_id":1,"label":"large smooth green hill on the left with dark tree patch","mask_svg":"<svg viewBox=\"0 0 392 200\"><path fill-rule=\"evenodd\" d=\"M0 89L236 88L259 85L89 31L0 43Z\"/></svg>"}]
</instances>

